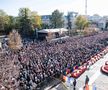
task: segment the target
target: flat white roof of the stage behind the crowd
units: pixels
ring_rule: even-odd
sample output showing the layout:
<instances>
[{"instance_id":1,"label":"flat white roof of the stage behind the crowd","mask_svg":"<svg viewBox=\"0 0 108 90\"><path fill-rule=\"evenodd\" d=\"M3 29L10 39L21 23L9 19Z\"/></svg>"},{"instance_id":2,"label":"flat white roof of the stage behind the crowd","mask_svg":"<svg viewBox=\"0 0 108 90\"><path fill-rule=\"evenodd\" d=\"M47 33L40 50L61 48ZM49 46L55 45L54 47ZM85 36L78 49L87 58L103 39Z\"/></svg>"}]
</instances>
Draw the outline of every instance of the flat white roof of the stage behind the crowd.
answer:
<instances>
[{"instance_id":1,"label":"flat white roof of the stage behind the crowd","mask_svg":"<svg viewBox=\"0 0 108 90\"><path fill-rule=\"evenodd\" d=\"M43 30L40 30L40 31L37 31L39 33L55 33L55 32L63 32L63 31L68 31L67 29L65 28L56 28L56 29L43 29Z\"/></svg>"}]
</instances>

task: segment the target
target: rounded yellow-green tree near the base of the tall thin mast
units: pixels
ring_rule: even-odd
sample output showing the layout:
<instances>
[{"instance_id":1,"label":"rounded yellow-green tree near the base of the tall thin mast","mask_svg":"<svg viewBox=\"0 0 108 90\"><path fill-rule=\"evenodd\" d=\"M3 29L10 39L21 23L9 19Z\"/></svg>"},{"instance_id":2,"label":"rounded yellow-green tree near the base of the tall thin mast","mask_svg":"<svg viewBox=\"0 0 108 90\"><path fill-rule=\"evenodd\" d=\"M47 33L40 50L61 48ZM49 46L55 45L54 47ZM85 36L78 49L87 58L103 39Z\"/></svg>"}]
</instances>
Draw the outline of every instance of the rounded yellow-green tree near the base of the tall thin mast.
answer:
<instances>
[{"instance_id":1,"label":"rounded yellow-green tree near the base of the tall thin mast","mask_svg":"<svg viewBox=\"0 0 108 90\"><path fill-rule=\"evenodd\" d=\"M88 27L89 22L86 19L86 17L80 15L76 18L75 24L77 26L77 29L81 30L84 29L85 27Z\"/></svg>"}]
</instances>

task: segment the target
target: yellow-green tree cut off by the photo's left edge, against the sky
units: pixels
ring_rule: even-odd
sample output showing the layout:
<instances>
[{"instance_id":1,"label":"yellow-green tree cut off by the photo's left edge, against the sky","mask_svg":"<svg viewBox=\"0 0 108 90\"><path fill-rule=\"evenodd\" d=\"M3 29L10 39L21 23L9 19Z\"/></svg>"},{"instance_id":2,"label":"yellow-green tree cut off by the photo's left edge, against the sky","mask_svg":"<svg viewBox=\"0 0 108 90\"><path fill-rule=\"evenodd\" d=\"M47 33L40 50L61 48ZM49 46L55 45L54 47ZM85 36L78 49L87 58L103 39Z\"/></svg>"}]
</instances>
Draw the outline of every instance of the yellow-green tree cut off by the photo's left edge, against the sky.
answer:
<instances>
[{"instance_id":1,"label":"yellow-green tree cut off by the photo's left edge, against the sky","mask_svg":"<svg viewBox=\"0 0 108 90\"><path fill-rule=\"evenodd\" d=\"M2 34L9 34L12 29L17 27L17 17L8 16L3 10L0 10L0 31Z\"/></svg>"}]
</instances>

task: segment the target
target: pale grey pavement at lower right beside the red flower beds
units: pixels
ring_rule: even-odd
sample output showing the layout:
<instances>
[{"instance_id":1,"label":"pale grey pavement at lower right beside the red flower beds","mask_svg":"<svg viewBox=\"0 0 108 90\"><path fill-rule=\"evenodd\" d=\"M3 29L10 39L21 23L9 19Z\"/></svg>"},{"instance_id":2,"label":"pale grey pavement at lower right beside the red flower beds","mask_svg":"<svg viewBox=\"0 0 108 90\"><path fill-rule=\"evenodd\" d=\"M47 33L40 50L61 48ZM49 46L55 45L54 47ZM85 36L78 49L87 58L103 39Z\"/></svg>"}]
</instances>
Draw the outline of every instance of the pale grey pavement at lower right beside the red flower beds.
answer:
<instances>
[{"instance_id":1,"label":"pale grey pavement at lower right beside the red flower beds","mask_svg":"<svg viewBox=\"0 0 108 90\"><path fill-rule=\"evenodd\" d=\"M106 54L103 58L98 60L94 65L90 67L90 70L86 70L78 79L77 79L77 85L76 90L83 90L83 87L85 85L85 77L88 75L89 77L89 86L96 85L97 90L108 90L108 77L105 76L103 73L100 72L100 68L102 65L105 64L105 61L108 61L108 54ZM102 85L101 79L104 77L104 85ZM104 86L104 87L102 87ZM68 87L68 90L73 90L73 87ZM101 89L98 89L101 88Z\"/></svg>"}]
</instances>

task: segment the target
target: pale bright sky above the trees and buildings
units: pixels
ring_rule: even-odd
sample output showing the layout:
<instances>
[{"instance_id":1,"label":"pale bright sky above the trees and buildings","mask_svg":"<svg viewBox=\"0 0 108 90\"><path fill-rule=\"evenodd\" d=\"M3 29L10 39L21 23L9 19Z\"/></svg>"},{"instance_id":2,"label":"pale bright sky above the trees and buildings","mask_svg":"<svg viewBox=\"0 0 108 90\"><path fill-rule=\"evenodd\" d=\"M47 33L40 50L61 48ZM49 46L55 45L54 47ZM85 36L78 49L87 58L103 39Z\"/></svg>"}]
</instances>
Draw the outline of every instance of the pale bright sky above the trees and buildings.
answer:
<instances>
[{"instance_id":1,"label":"pale bright sky above the trees and buildings","mask_svg":"<svg viewBox=\"0 0 108 90\"><path fill-rule=\"evenodd\" d=\"M108 15L108 0L87 0L87 14ZM69 11L85 14L85 0L0 0L0 9L8 15L17 16L19 8L27 7L39 15L51 14L55 9L65 15Z\"/></svg>"}]
</instances>

